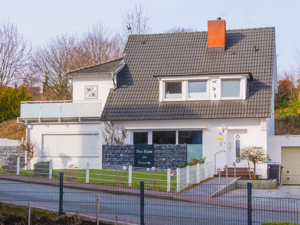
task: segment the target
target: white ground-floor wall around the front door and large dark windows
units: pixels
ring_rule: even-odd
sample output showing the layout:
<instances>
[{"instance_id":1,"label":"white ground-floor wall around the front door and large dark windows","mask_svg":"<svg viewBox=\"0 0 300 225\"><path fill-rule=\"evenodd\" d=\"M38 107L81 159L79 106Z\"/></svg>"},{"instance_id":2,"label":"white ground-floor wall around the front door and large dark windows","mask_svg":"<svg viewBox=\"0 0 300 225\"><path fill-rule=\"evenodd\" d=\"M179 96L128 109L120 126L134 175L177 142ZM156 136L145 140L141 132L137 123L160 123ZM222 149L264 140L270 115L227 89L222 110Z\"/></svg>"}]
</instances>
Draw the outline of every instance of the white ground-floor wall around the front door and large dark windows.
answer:
<instances>
[{"instance_id":1,"label":"white ground-floor wall around the front door and large dark windows","mask_svg":"<svg viewBox=\"0 0 300 225\"><path fill-rule=\"evenodd\" d=\"M224 126L223 133L222 125ZM266 121L259 118L122 121L119 126L124 126L128 130L126 142L130 144L133 143L133 132L137 131L202 130L203 156L208 160L214 160L215 153L224 151L216 155L216 168L223 168L224 165L232 167L232 162L235 161L235 134L241 134L241 148L257 145L267 149ZM221 144L218 138L223 138ZM151 132L149 132L148 140L151 143ZM247 167L247 162L241 162L237 166ZM261 174L262 177L267 176L266 165L258 165L256 170L256 174Z\"/></svg>"}]
</instances>

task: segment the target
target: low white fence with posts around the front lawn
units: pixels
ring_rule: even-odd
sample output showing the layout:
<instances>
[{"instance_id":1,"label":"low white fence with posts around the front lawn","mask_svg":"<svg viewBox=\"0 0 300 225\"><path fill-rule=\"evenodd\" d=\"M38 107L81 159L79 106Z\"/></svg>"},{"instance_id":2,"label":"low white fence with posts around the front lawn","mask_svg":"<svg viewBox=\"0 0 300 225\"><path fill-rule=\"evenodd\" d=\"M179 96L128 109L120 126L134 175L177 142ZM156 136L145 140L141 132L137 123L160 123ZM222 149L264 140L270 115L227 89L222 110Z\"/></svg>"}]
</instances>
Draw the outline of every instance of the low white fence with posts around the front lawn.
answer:
<instances>
[{"instance_id":1,"label":"low white fence with posts around the front lawn","mask_svg":"<svg viewBox=\"0 0 300 225\"><path fill-rule=\"evenodd\" d=\"M25 167L23 158L10 158L10 161L0 162L3 171L16 175L40 175L44 178L57 179L57 175L64 173L64 180L85 183L124 183L129 187L136 187L140 180L145 181L147 189L163 190L167 192L180 192L190 184L197 184L201 181L213 177L214 168L213 161L206 161L203 164L195 166L187 166L185 168L155 169L119 166L119 165L103 165L103 164L82 164L75 162L52 161L45 165L35 165L35 170L22 170ZM7 166L9 165L9 166ZM49 166L48 166L49 165ZM23 168L22 168L23 167ZM55 177L53 177L55 176Z\"/></svg>"}]
</instances>

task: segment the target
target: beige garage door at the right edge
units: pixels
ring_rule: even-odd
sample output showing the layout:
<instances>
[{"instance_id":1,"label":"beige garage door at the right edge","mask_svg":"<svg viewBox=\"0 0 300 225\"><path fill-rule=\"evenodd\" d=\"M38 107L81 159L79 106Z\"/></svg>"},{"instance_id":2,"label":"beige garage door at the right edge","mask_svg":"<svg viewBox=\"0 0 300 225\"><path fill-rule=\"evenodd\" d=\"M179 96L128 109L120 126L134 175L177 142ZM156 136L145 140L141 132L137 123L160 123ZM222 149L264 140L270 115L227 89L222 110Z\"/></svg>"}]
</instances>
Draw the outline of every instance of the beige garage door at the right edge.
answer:
<instances>
[{"instance_id":1,"label":"beige garage door at the right edge","mask_svg":"<svg viewBox=\"0 0 300 225\"><path fill-rule=\"evenodd\" d=\"M300 147L281 147L282 184L300 184Z\"/></svg>"}]
</instances>

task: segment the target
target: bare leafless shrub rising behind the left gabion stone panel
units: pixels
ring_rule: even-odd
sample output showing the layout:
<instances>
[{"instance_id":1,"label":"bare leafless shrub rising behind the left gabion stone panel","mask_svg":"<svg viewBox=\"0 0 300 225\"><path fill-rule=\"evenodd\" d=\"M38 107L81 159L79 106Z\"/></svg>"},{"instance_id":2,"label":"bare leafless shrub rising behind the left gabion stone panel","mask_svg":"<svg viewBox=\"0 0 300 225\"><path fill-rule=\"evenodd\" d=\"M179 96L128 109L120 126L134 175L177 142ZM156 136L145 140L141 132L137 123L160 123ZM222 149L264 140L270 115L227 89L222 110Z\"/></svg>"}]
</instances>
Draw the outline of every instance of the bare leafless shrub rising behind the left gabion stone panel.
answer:
<instances>
[{"instance_id":1,"label":"bare leafless shrub rising behind the left gabion stone panel","mask_svg":"<svg viewBox=\"0 0 300 225\"><path fill-rule=\"evenodd\" d=\"M108 124L99 128L100 139L106 145L124 145L125 139L128 136L127 130L123 127L114 125L113 123Z\"/></svg>"}]
</instances>

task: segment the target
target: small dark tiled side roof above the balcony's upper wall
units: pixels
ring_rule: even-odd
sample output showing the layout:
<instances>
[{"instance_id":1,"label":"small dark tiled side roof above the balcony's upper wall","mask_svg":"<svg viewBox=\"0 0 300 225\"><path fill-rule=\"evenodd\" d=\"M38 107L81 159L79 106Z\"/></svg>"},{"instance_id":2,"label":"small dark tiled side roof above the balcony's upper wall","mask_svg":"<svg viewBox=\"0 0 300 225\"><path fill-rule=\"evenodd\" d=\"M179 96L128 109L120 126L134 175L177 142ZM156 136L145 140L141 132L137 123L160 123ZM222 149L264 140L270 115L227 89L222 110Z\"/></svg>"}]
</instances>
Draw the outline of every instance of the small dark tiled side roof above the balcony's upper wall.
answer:
<instances>
[{"instance_id":1,"label":"small dark tiled side roof above the balcony's upper wall","mask_svg":"<svg viewBox=\"0 0 300 225\"><path fill-rule=\"evenodd\" d=\"M65 74L82 74L82 73L113 73L124 64L123 58L117 58L108 62L98 63L88 67L83 67L77 70L69 71Z\"/></svg>"}]
</instances>

